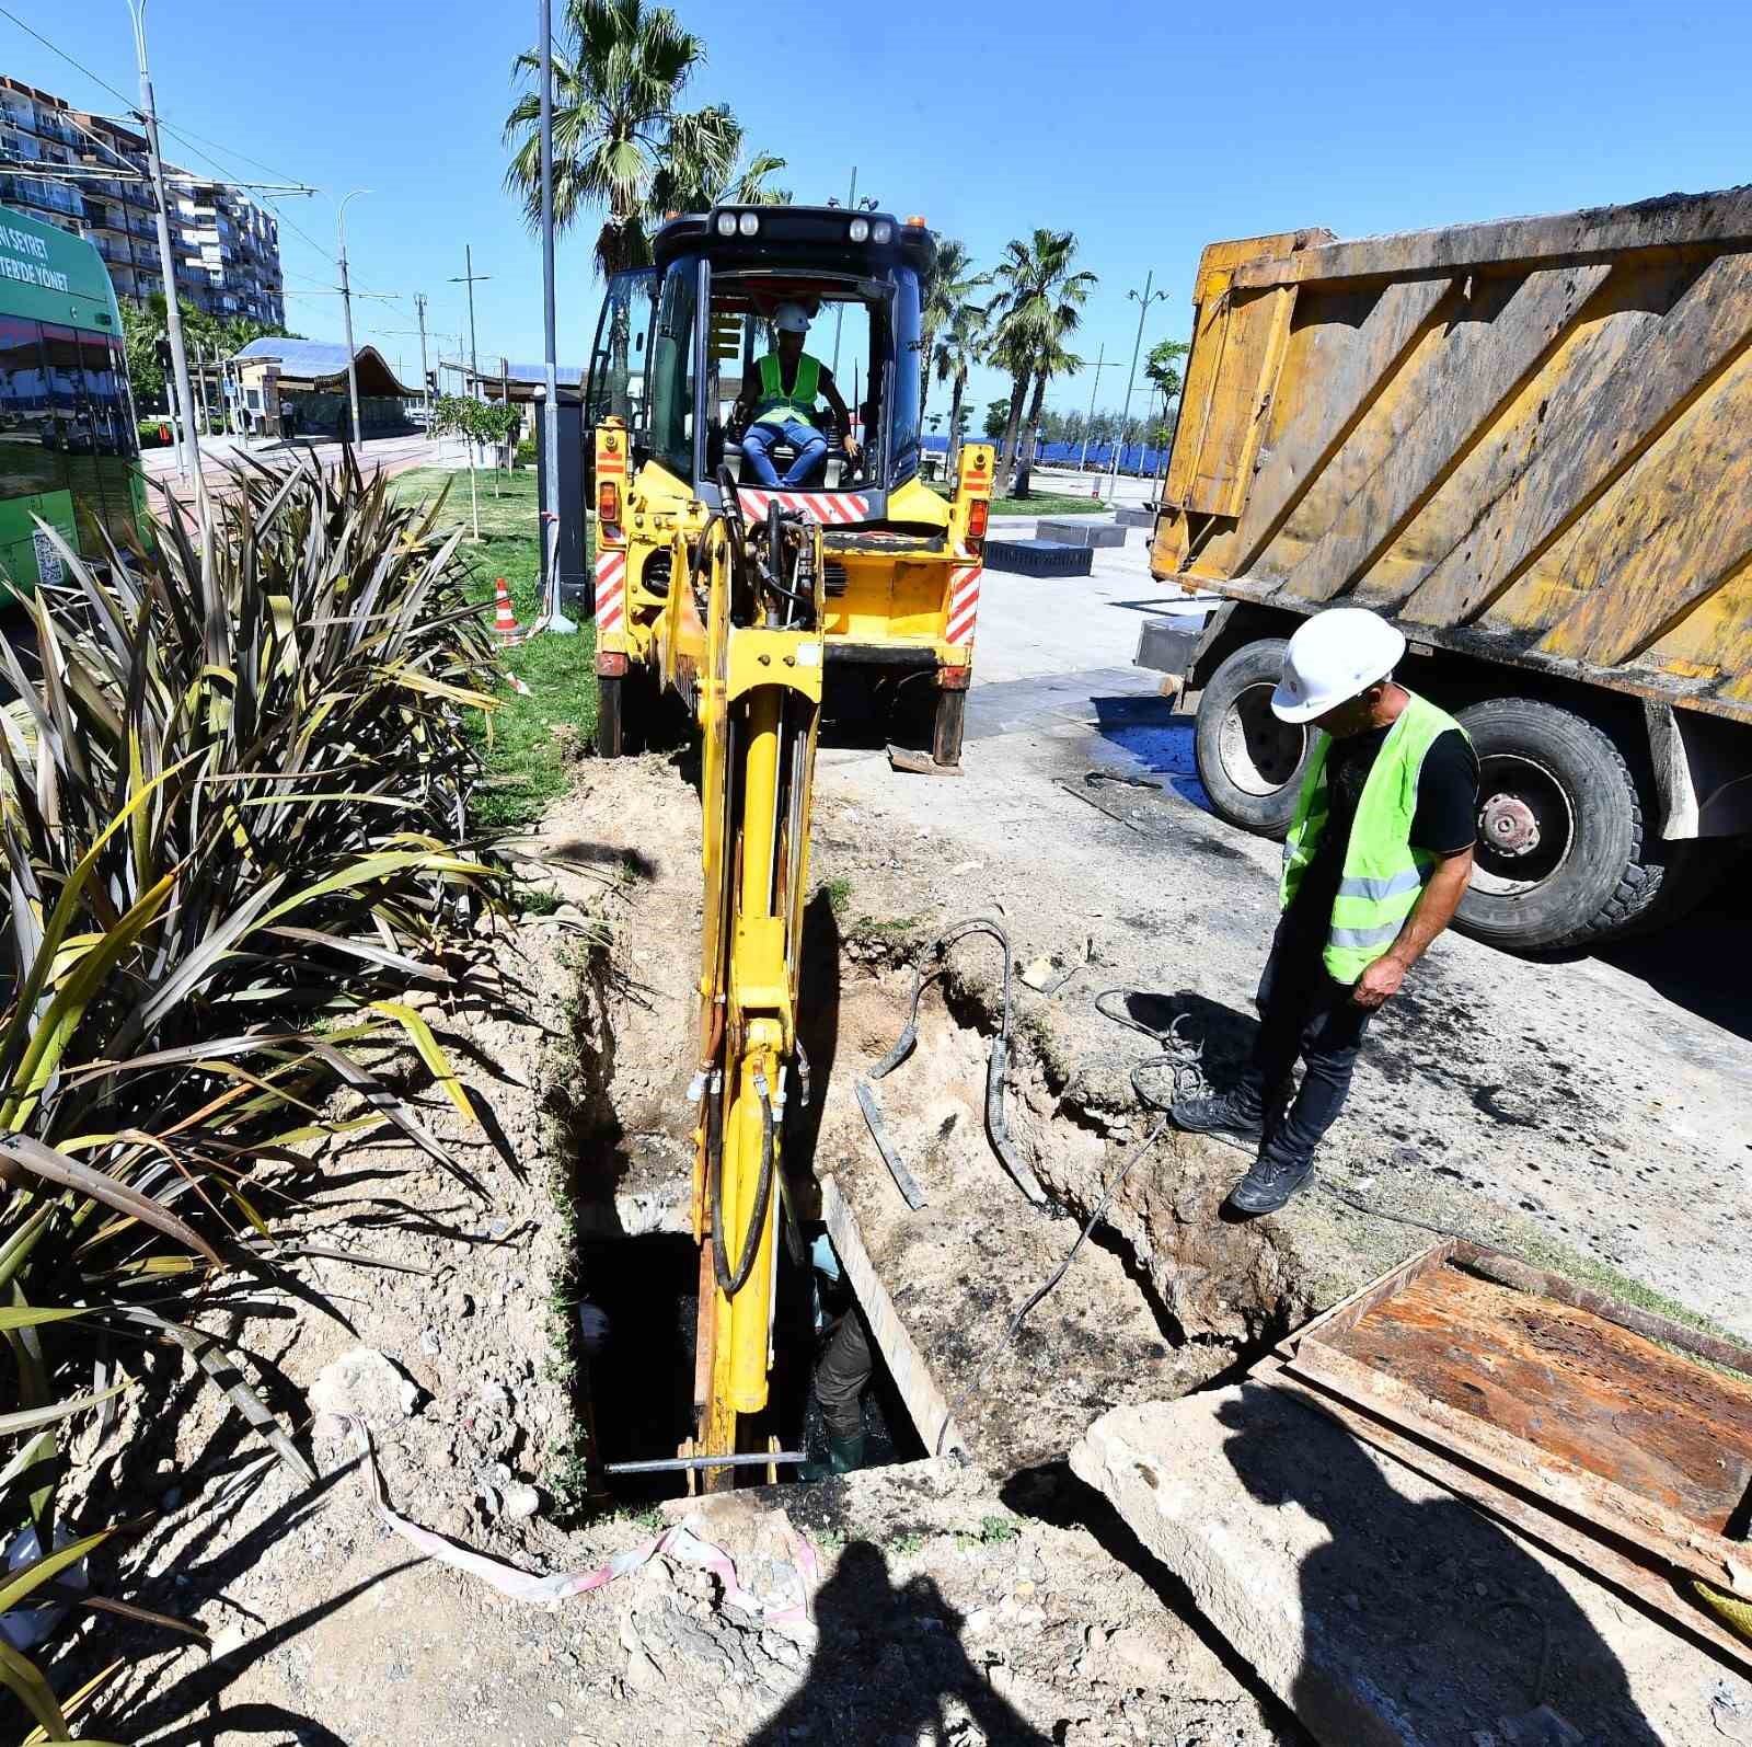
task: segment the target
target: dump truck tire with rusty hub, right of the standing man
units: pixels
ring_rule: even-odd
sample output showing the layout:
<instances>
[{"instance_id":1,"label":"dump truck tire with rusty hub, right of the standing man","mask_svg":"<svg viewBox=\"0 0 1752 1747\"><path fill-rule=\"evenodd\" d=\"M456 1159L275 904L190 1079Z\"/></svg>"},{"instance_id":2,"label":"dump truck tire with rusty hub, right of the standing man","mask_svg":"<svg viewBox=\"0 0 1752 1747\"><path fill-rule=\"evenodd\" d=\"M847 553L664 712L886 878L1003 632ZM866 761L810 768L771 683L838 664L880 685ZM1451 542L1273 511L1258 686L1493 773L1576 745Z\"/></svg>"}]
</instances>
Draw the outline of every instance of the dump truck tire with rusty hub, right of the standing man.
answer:
<instances>
[{"instance_id":1,"label":"dump truck tire with rusty hub, right of the standing man","mask_svg":"<svg viewBox=\"0 0 1752 1747\"><path fill-rule=\"evenodd\" d=\"M1479 753L1479 848L1454 925L1508 951L1551 951L1638 922L1671 845L1645 831L1612 736L1535 697L1491 697L1459 722Z\"/></svg>"}]
</instances>

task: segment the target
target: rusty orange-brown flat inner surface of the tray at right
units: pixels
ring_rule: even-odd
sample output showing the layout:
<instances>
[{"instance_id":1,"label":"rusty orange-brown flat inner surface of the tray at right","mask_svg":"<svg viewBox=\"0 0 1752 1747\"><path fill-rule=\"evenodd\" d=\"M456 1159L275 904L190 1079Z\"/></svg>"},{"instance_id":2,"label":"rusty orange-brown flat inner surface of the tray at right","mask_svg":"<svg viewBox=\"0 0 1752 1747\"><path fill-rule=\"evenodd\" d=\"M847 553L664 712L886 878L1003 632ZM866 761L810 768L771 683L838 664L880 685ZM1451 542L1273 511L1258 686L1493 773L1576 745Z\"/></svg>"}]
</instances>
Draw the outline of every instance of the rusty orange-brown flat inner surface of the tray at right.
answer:
<instances>
[{"instance_id":1,"label":"rusty orange-brown flat inner surface of the tray at right","mask_svg":"<svg viewBox=\"0 0 1752 1747\"><path fill-rule=\"evenodd\" d=\"M1444 1269L1321 1339L1713 1533L1752 1482L1752 1381L1587 1311Z\"/></svg>"}]
</instances>

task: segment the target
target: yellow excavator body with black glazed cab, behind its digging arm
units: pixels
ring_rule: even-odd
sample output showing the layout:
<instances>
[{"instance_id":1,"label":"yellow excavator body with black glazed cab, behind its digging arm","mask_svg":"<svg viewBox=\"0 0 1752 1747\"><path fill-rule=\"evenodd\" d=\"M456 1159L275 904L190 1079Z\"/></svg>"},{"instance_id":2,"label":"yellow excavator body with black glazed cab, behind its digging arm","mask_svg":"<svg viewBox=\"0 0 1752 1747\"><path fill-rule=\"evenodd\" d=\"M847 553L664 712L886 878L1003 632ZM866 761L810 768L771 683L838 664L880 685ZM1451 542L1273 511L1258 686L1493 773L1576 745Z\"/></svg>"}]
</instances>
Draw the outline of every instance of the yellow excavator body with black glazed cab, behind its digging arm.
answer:
<instances>
[{"instance_id":1,"label":"yellow excavator body with black glazed cab, behind its digging arm","mask_svg":"<svg viewBox=\"0 0 1752 1747\"><path fill-rule=\"evenodd\" d=\"M625 501L606 505L613 515L599 480L590 485L601 750L634 743L652 690L676 683L662 626L669 529L738 508L759 520L778 501L822 527L829 668L862 668L890 701L932 697L932 753L957 764L992 452L962 449L948 499L920 478L930 231L922 219L841 207L724 207L671 219L653 254L653 266L610 280L585 385L585 422L618 419L627 461ZM827 452L790 489L757 477L736 421L745 384L776 349L771 322L785 303L809 314L804 350L830 371L858 440L848 454L823 405ZM769 454L785 478L795 456L783 442ZM685 671L676 689L687 692Z\"/></svg>"}]
</instances>

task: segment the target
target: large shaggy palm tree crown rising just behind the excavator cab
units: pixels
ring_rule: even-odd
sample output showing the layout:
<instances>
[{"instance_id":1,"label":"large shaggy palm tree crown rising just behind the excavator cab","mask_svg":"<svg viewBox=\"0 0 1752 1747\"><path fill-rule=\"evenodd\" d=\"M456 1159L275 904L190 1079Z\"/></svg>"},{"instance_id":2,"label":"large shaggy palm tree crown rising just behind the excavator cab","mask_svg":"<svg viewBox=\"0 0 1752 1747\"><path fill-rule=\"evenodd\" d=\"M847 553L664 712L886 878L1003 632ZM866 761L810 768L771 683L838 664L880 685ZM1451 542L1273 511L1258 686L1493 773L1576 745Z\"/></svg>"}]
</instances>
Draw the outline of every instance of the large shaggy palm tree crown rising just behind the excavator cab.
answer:
<instances>
[{"instance_id":1,"label":"large shaggy palm tree crown rising just behind the excavator cab","mask_svg":"<svg viewBox=\"0 0 1752 1747\"><path fill-rule=\"evenodd\" d=\"M606 207L596 238L603 273L650 263L653 219L668 207L703 207L731 184L743 130L722 103L682 110L706 44L675 12L645 0L566 0L554 49L554 223L566 230L587 207ZM527 49L517 81L540 79ZM541 96L524 91L505 121L513 145L505 186L541 221ZM766 163L762 175L780 166Z\"/></svg>"}]
</instances>

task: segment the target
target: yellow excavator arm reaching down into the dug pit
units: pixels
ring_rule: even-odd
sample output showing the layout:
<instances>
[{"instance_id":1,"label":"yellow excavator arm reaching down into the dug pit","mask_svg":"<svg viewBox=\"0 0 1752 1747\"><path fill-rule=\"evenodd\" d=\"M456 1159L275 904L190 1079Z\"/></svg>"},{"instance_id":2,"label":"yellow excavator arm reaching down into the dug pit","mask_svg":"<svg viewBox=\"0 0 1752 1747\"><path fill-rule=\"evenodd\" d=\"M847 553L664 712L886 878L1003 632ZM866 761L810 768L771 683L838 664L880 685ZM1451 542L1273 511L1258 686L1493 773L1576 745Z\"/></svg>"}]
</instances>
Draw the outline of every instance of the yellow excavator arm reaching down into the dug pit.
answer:
<instances>
[{"instance_id":1,"label":"yellow excavator arm reaching down into the dug pit","mask_svg":"<svg viewBox=\"0 0 1752 1747\"><path fill-rule=\"evenodd\" d=\"M704 624L692 1456L748 1451L767 1405L822 710L820 524L776 503L748 522L732 489L724 505L697 541L678 536L675 554ZM732 1470L701 1474L710 1491L727 1486Z\"/></svg>"}]
</instances>

